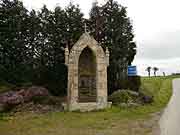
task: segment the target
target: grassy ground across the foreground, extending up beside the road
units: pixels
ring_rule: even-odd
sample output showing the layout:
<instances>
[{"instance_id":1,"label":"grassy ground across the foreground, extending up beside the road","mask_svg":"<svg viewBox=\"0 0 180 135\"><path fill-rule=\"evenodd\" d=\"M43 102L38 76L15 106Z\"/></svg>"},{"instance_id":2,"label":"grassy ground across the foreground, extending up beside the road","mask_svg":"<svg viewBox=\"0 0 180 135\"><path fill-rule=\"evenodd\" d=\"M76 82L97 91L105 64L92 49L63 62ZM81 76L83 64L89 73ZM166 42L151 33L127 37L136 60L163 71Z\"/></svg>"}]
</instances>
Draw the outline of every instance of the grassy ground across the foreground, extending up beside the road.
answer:
<instances>
[{"instance_id":1,"label":"grassy ground across the foreground, extending up beside the road","mask_svg":"<svg viewBox=\"0 0 180 135\"><path fill-rule=\"evenodd\" d=\"M142 78L141 90L154 96L154 102L141 107L112 107L88 113L1 114L0 135L153 135L171 97L173 78Z\"/></svg>"}]
</instances>

